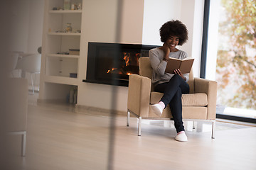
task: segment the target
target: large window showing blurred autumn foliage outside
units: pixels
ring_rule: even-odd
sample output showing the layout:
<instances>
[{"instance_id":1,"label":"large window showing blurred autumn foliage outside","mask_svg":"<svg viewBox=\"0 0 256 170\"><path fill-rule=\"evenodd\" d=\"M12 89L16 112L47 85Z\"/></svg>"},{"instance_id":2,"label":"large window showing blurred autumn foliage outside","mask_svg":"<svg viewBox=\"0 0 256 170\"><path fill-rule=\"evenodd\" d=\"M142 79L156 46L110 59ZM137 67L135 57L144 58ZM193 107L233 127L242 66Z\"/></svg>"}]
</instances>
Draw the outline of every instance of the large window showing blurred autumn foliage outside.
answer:
<instances>
[{"instance_id":1,"label":"large window showing blurred autumn foliage outside","mask_svg":"<svg viewBox=\"0 0 256 170\"><path fill-rule=\"evenodd\" d=\"M206 79L218 81L219 118L256 122L255 26L256 1L210 1Z\"/></svg>"}]
</instances>

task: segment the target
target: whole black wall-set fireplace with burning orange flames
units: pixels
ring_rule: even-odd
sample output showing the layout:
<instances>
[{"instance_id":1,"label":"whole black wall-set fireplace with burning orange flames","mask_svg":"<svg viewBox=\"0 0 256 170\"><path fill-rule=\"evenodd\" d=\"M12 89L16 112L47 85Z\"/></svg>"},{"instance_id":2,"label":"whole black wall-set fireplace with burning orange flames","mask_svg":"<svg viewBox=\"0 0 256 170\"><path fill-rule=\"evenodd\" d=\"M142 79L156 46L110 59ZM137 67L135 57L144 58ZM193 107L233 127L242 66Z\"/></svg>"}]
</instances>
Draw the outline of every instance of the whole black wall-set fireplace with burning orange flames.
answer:
<instances>
[{"instance_id":1,"label":"whole black wall-set fireplace with burning orange flames","mask_svg":"<svg viewBox=\"0 0 256 170\"><path fill-rule=\"evenodd\" d=\"M156 45L89 42L84 82L128 86L129 74L139 74L139 57Z\"/></svg>"}]
</instances>

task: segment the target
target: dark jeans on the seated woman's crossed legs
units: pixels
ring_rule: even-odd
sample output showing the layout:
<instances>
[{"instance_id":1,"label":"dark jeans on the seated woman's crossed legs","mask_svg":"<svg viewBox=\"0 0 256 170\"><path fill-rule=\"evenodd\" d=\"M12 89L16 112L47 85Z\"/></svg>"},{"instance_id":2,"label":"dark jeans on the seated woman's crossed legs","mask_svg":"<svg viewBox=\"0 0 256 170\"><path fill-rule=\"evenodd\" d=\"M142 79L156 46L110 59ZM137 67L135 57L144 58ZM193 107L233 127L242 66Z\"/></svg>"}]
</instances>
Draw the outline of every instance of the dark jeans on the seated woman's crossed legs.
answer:
<instances>
[{"instance_id":1,"label":"dark jeans on the seated woman's crossed legs","mask_svg":"<svg viewBox=\"0 0 256 170\"><path fill-rule=\"evenodd\" d=\"M165 106L169 104L176 131L184 131L181 95L189 93L189 86L186 81L178 74L175 74L169 82L156 85L154 91L164 93L160 101L164 102Z\"/></svg>"}]
</instances>

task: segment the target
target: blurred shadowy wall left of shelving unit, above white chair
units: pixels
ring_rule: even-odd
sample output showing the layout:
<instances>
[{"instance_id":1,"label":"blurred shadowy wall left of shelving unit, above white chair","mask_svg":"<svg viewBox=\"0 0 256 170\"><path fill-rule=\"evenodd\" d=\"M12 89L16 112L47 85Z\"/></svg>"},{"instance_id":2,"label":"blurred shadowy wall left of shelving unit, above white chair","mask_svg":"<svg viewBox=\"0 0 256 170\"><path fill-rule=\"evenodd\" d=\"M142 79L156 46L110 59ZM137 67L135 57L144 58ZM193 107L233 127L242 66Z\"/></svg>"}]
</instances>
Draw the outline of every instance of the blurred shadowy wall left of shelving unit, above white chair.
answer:
<instances>
[{"instance_id":1,"label":"blurred shadowy wall left of shelving unit, above white chair","mask_svg":"<svg viewBox=\"0 0 256 170\"><path fill-rule=\"evenodd\" d=\"M11 51L37 53L42 45L43 0L16 0L11 8Z\"/></svg>"}]
</instances>

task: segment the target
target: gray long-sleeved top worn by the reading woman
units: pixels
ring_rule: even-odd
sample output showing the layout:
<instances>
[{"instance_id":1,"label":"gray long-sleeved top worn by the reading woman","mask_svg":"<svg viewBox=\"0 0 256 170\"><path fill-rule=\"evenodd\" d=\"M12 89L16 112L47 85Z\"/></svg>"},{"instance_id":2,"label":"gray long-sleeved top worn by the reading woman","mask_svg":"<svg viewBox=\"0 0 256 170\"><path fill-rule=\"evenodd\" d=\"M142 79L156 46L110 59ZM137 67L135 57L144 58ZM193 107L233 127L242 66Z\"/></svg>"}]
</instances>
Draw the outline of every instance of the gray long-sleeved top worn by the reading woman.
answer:
<instances>
[{"instance_id":1,"label":"gray long-sleeved top worn by the reading woman","mask_svg":"<svg viewBox=\"0 0 256 170\"><path fill-rule=\"evenodd\" d=\"M170 52L169 57L183 60L188 57L188 54L182 50L177 52ZM149 59L151 67L153 68L152 83L156 86L157 84L168 82L174 74L165 73L167 62L164 59L164 51L160 50L159 47L149 50ZM183 74L188 81L188 74Z\"/></svg>"}]
</instances>

